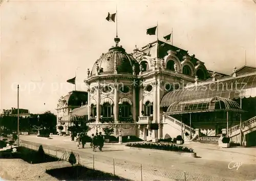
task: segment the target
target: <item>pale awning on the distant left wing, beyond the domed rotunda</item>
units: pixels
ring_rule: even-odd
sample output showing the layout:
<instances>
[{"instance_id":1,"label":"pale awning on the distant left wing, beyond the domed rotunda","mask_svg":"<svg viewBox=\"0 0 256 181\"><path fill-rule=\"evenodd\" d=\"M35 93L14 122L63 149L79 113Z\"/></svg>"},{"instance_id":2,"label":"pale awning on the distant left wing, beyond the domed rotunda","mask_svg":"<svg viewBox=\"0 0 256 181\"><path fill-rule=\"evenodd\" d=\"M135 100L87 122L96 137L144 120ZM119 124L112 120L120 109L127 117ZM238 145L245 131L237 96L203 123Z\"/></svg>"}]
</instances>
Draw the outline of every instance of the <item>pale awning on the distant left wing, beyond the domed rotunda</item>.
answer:
<instances>
[{"instance_id":1,"label":"pale awning on the distant left wing, beyond the domed rotunda","mask_svg":"<svg viewBox=\"0 0 256 181\"><path fill-rule=\"evenodd\" d=\"M70 121L87 121L88 120L88 107L81 106L72 110L72 115L63 116L60 122L70 122Z\"/></svg>"}]
</instances>

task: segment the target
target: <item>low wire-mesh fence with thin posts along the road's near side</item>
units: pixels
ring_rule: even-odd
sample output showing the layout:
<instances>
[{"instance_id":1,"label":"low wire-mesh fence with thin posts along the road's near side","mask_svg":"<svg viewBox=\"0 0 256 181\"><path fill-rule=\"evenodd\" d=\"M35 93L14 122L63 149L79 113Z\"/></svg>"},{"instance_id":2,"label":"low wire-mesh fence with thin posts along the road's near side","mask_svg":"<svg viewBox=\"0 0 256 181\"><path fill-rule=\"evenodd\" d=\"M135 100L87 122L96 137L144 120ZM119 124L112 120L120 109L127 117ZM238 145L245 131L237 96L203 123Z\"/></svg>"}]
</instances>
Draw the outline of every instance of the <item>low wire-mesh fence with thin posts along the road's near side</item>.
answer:
<instances>
[{"instance_id":1,"label":"low wire-mesh fence with thin posts along the road's near side","mask_svg":"<svg viewBox=\"0 0 256 181\"><path fill-rule=\"evenodd\" d=\"M22 141L20 145L38 150L41 144ZM46 154L56 156L61 160L68 161L69 154L72 151L76 156L77 163L80 165L95 170L112 173L131 180L228 180L220 177L213 177L211 175L185 172L164 167L161 168L159 166L154 166L154 164L150 165L112 158L97 154L97 152L92 154L88 152L78 152L77 150L65 150L55 146L42 146Z\"/></svg>"}]
</instances>

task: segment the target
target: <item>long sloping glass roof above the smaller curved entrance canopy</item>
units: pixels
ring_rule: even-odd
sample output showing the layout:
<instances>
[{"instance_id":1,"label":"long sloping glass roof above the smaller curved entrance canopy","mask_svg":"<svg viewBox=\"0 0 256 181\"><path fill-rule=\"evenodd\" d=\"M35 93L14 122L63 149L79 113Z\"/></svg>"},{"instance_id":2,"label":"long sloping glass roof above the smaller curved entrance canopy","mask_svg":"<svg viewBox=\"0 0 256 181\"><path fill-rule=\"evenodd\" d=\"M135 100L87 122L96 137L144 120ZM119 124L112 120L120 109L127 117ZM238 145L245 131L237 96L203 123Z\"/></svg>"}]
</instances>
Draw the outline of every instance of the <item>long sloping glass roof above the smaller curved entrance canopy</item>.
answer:
<instances>
[{"instance_id":1,"label":"long sloping glass roof above the smaller curved entrance canopy","mask_svg":"<svg viewBox=\"0 0 256 181\"><path fill-rule=\"evenodd\" d=\"M191 101L222 97L226 99L238 99L256 97L256 73L239 77L225 78L217 81L209 81L205 84L185 87L165 94L160 107L168 107L175 102Z\"/></svg>"}]
</instances>

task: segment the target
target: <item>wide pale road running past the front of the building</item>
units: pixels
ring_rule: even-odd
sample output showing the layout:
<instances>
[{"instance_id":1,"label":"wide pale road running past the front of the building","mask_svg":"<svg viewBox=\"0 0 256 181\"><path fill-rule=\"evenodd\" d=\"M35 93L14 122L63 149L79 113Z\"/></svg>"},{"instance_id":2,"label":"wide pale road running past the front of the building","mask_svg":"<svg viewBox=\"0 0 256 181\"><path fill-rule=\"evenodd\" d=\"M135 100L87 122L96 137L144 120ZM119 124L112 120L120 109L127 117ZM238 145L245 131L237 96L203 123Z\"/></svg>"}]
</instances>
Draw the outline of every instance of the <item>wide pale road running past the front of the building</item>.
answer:
<instances>
[{"instance_id":1,"label":"wide pale road running past the front of the building","mask_svg":"<svg viewBox=\"0 0 256 181\"><path fill-rule=\"evenodd\" d=\"M215 161L177 156L168 151L130 149L123 145L105 144L104 151L93 152L89 145L84 149L76 149L76 144L69 141L69 138L64 137L54 137L52 140L48 140L29 135L20 136L20 139L38 143L38 145L42 144L45 149L78 151L83 159L88 160L88 163L93 162L93 154L95 162L106 165L113 165L113 157L115 157L115 164L120 169L123 169L117 170L116 174L118 174L117 172L125 171L125 169L132 169L137 172L140 170L140 164L142 164L144 175L153 174L179 180L184 178L184 171L186 172L186 180L221 180L221 178L227 180L253 180L256 178L256 165L242 164L238 169L229 169L230 162L219 160L222 154L221 151L219 153L212 152L212 157L218 154L218 161ZM211 150L207 154L210 154L210 152ZM231 161L236 162L236 158L232 158ZM230 165L232 167L233 163Z\"/></svg>"}]
</instances>

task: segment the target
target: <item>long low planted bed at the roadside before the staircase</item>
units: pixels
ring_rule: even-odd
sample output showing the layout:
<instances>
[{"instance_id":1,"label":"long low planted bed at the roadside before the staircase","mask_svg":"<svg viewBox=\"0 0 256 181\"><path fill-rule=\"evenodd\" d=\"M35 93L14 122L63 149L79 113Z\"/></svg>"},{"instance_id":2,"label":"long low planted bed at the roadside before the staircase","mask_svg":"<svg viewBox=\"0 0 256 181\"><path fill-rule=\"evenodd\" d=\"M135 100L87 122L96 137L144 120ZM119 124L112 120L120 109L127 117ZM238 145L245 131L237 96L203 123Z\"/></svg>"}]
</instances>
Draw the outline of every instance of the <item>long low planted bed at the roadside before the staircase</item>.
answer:
<instances>
[{"instance_id":1,"label":"long low planted bed at the roadside before the staircase","mask_svg":"<svg viewBox=\"0 0 256 181\"><path fill-rule=\"evenodd\" d=\"M166 150L166 151L179 151L179 152L188 152L194 153L194 150L187 147L176 146L173 144L154 144L154 143L128 143L126 146L137 147L137 148L147 148L147 149L157 149L157 150Z\"/></svg>"}]
</instances>

